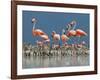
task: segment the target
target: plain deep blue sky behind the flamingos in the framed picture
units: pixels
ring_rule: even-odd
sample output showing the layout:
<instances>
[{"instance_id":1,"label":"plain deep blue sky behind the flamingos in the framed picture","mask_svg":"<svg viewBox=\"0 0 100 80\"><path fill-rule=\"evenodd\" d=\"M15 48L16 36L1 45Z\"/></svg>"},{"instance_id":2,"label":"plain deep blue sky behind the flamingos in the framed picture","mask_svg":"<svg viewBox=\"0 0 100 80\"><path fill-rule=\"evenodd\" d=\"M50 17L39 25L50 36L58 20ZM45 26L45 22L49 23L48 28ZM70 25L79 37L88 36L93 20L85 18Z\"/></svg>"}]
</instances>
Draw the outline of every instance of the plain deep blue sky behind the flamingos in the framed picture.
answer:
<instances>
[{"instance_id":1,"label":"plain deep blue sky behind the flamingos in the framed picture","mask_svg":"<svg viewBox=\"0 0 100 80\"><path fill-rule=\"evenodd\" d=\"M89 28L90 28L90 15L84 13L63 13L63 12L39 12L39 11L23 11L22 12L22 26L23 26L23 42L35 44L36 40L40 40L40 37L32 36L32 18L37 19L37 23L35 28L43 30L46 34L48 34L50 40L52 31L56 31L57 34L62 34L62 29L66 28L66 25L71 21L76 21L75 29L82 29L88 35L81 37L72 37L67 43L75 44L85 41L89 46ZM59 41L62 44L62 41Z\"/></svg>"}]
</instances>

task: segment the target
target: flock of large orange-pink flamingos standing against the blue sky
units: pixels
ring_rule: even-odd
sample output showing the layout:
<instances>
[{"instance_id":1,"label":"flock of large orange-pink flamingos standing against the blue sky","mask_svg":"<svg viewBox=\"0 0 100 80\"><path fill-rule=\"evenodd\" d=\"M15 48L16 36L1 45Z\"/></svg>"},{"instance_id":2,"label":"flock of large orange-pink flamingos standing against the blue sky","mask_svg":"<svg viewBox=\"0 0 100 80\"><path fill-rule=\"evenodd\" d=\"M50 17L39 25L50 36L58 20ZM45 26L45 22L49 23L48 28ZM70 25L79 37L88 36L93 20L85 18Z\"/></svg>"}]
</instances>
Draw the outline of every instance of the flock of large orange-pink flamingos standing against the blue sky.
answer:
<instances>
[{"instance_id":1,"label":"flock of large orange-pink flamingos standing against the blue sky","mask_svg":"<svg viewBox=\"0 0 100 80\"><path fill-rule=\"evenodd\" d=\"M38 36L41 38L40 41L36 41L37 45L43 46L44 44L50 43L49 36L43 30L37 29L35 27L36 22L37 22L36 18L32 18L32 23L33 23L32 36L33 37ZM66 26L66 29L62 29L62 35L56 33L56 31L52 31L52 33L51 33L52 45L60 46L60 40L61 40L62 44L65 46L67 44L67 41L71 37L79 37L79 39L80 39L80 37L87 35L87 33L81 29L75 30L75 26L76 26L76 21L73 20Z\"/></svg>"}]
</instances>

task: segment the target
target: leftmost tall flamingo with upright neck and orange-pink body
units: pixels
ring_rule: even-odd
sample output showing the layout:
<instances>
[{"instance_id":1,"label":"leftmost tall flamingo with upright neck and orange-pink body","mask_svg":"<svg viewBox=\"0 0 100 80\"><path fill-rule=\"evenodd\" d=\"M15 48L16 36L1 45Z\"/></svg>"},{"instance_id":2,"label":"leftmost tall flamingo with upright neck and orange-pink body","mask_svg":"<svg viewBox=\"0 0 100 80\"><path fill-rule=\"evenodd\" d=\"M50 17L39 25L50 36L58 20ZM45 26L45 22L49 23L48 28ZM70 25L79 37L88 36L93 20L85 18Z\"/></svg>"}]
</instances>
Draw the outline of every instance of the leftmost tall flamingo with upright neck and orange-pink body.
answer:
<instances>
[{"instance_id":1,"label":"leftmost tall flamingo with upright neck and orange-pink body","mask_svg":"<svg viewBox=\"0 0 100 80\"><path fill-rule=\"evenodd\" d=\"M36 22L37 20L35 18L32 18L32 23L33 23L32 35L33 36L44 35L45 33L41 29L35 29Z\"/></svg>"}]
</instances>

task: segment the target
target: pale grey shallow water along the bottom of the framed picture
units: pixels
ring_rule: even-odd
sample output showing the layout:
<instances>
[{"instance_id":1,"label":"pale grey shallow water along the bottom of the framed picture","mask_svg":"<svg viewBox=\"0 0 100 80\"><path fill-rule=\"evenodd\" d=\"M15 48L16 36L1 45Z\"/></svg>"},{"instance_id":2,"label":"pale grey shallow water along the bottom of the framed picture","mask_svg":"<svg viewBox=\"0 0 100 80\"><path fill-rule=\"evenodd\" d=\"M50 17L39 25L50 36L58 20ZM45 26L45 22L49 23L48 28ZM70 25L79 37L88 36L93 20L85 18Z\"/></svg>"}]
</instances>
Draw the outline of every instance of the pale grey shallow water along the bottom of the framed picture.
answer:
<instances>
[{"instance_id":1,"label":"pale grey shallow water along the bottom of the framed picture","mask_svg":"<svg viewBox=\"0 0 100 80\"><path fill-rule=\"evenodd\" d=\"M87 55L64 55L64 56L24 56L22 57L23 69L68 67L89 65L89 54Z\"/></svg>"}]
</instances>

